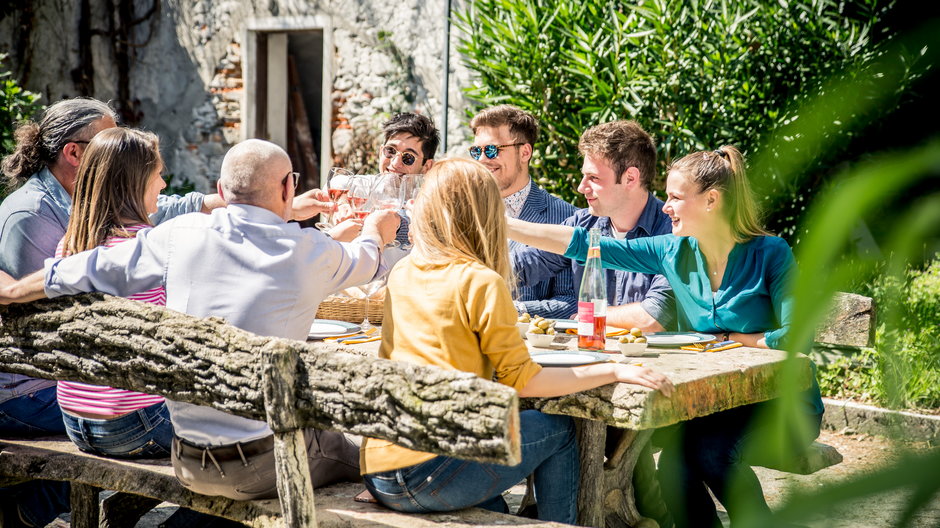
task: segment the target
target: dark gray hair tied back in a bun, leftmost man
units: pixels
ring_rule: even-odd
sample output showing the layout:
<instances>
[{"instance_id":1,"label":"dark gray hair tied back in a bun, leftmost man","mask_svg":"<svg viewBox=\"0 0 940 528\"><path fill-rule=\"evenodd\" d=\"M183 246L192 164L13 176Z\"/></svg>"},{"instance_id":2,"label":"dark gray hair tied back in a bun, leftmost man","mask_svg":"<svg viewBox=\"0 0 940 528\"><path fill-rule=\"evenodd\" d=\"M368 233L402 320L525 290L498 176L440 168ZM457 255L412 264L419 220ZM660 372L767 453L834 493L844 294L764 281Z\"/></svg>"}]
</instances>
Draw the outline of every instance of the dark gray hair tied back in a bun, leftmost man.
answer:
<instances>
[{"instance_id":1,"label":"dark gray hair tied back in a bun, leftmost man","mask_svg":"<svg viewBox=\"0 0 940 528\"><path fill-rule=\"evenodd\" d=\"M82 133L104 117L115 122L117 113L97 99L76 97L59 101L43 113L39 123L25 122L16 128L16 148L3 158L2 169L7 185L15 187L55 163L70 141L90 140Z\"/></svg>"}]
</instances>

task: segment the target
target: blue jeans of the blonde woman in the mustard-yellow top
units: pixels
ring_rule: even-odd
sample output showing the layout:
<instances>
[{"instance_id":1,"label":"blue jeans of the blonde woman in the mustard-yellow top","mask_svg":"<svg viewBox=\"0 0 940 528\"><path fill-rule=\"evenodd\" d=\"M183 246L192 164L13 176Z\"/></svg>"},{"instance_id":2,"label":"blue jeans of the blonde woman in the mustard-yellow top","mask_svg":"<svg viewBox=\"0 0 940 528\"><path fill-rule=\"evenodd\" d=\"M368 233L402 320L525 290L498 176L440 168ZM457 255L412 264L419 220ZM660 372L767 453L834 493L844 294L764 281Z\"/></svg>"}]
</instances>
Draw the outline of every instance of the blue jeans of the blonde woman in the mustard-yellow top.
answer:
<instances>
[{"instance_id":1,"label":"blue jeans of the blonde woman in the mustard-yellow top","mask_svg":"<svg viewBox=\"0 0 940 528\"><path fill-rule=\"evenodd\" d=\"M575 523L581 467L574 422L567 416L538 411L523 411L519 418L522 462L516 466L439 456L364 475L366 487L385 506L406 513L471 506L506 512L502 492L534 473L539 519Z\"/></svg>"}]
</instances>

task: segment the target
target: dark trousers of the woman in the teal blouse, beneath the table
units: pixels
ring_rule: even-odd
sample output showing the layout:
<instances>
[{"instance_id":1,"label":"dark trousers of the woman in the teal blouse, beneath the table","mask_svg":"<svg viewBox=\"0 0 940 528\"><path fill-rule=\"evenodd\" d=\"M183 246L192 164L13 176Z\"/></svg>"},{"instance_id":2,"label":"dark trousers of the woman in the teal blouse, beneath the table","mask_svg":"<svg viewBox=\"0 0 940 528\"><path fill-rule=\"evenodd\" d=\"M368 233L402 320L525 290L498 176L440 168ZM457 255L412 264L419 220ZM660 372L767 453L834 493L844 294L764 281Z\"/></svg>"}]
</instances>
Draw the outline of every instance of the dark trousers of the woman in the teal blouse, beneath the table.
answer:
<instances>
[{"instance_id":1,"label":"dark trousers of the woman in the teal blouse, beneath the table","mask_svg":"<svg viewBox=\"0 0 940 528\"><path fill-rule=\"evenodd\" d=\"M767 433L755 427L763 413L775 413L776 401L737 407L658 430L653 442L659 455L659 481L663 499L676 528L720 528L721 521L708 489L725 506L732 526L769 523L770 508L749 460L775 456L765 449ZM790 455L799 453L819 436L822 415L808 415L808 430L793 433L783 442ZM707 486L707 488L706 488Z\"/></svg>"}]
</instances>

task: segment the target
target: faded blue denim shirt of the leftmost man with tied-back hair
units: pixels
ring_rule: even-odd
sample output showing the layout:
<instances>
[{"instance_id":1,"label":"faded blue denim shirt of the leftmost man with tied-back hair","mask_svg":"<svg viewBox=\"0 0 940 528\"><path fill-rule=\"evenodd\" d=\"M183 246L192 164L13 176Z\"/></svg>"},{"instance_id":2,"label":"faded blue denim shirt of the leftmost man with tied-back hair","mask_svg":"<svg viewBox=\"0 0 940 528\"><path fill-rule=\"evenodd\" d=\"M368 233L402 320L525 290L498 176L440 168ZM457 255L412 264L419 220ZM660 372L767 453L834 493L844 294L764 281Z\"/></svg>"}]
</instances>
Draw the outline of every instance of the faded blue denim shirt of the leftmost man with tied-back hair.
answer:
<instances>
[{"instance_id":1,"label":"faded blue denim shirt of the leftmost man with tied-back hair","mask_svg":"<svg viewBox=\"0 0 940 528\"><path fill-rule=\"evenodd\" d=\"M163 196L150 221L158 224L202 209L202 193ZM0 270L19 279L40 270L65 235L72 209L69 196L48 168L30 176L0 203ZM55 381L0 372L0 403L52 387Z\"/></svg>"}]
</instances>

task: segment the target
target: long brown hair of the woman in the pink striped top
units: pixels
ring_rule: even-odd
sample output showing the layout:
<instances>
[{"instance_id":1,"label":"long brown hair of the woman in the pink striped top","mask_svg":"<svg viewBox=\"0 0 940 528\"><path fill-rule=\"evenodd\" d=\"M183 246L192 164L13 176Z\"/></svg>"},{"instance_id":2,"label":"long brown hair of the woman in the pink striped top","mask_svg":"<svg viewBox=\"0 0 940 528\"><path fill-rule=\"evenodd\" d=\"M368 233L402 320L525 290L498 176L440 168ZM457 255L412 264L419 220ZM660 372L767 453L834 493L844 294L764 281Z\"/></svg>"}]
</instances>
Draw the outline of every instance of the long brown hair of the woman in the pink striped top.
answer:
<instances>
[{"instance_id":1,"label":"long brown hair of the woman in the pink striped top","mask_svg":"<svg viewBox=\"0 0 940 528\"><path fill-rule=\"evenodd\" d=\"M127 222L150 224L147 184L162 167L155 134L130 128L98 133L78 166L65 254L100 246L112 235L127 236Z\"/></svg>"}]
</instances>

